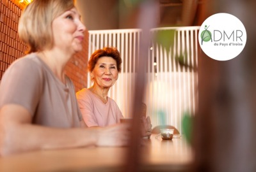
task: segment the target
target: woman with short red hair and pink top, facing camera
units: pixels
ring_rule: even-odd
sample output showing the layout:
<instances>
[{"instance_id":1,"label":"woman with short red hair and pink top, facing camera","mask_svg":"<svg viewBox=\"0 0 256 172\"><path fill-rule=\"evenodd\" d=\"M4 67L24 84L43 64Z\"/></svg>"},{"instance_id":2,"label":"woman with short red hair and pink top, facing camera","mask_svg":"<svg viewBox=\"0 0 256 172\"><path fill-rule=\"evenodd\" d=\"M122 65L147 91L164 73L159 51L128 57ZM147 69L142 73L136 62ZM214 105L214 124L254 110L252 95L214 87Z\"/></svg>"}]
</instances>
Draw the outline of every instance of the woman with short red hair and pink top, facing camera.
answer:
<instances>
[{"instance_id":1,"label":"woman with short red hair and pink top, facing camera","mask_svg":"<svg viewBox=\"0 0 256 172\"><path fill-rule=\"evenodd\" d=\"M76 93L77 101L87 127L106 127L120 122L124 118L116 102L108 97L109 89L118 79L121 71L122 59L114 47L96 50L88 62L88 71L93 80L89 89L82 89ZM143 136L150 136L150 118L141 114L145 125Z\"/></svg>"}]
</instances>

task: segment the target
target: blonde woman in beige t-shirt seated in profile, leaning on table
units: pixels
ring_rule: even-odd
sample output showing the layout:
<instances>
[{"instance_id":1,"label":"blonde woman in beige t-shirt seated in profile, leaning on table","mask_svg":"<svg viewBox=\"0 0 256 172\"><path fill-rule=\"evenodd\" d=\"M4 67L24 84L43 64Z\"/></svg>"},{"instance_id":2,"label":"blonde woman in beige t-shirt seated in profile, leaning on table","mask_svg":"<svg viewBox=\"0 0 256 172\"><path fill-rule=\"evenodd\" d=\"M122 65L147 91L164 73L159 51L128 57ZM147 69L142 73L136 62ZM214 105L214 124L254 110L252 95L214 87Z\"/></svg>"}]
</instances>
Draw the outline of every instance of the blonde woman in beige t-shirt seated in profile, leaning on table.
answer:
<instances>
[{"instance_id":1,"label":"blonde woman in beige t-shirt seated in profile, leaning on table","mask_svg":"<svg viewBox=\"0 0 256 172\"><path fill-rule=\"evenodd\" d=\"M73 0L34 0L19 36L29 54L13 62L0 85L0 155L28 150L127 145L127 126L81 127L74 86L65 75L82 50L84 30Z\"/></svg>"}]
</instances>

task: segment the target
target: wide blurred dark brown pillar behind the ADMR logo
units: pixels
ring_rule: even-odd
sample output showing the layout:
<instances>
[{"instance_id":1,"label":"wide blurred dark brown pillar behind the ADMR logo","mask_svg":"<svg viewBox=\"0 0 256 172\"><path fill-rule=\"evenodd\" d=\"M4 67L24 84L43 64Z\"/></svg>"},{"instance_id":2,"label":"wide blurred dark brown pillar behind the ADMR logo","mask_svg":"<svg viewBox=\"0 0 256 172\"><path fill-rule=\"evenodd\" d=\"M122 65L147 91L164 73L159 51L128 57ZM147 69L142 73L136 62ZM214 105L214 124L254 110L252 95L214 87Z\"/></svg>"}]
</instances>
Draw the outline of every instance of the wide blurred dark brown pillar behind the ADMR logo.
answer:
<instances>
[{"instance_id":1,"label":"wide blurred dark brown pillar behind the ADMR logo","mask_svg":"<svg viewBox=\"0 0 256 172\"><path fill-rule=\"evenodd\" d=\"M230 61L215 61L202 52L193 138L195 171L256 171L256 1L208 4L210 15L230 13L239 18L247 41L243 52Z\"/></svg>"}]
</instances>

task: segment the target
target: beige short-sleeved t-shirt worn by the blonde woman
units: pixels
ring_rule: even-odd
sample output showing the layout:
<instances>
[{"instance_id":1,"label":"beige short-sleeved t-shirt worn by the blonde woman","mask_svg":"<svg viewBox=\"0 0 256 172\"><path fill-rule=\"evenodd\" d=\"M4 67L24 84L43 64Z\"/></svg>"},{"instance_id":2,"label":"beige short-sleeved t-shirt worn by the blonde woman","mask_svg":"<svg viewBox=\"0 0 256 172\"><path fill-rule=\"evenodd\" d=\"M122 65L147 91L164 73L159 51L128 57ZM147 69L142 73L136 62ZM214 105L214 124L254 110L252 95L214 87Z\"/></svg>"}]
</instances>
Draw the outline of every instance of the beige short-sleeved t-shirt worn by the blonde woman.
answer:
<instances>
[{"instance_id":1,"label":"beige short-sleeved t-shirt worn by the blonde woman","mask_svg":"<svg viewBox=\"0 0 256 172\"><path fill-rule=\"evenodd\" d=\"M54 57L52 57L54 58ZM5 71L0 85L0 108L19 104L33 117L33 124L51 127L79 127L82 120L74 85L66 85L36 56L29 54Z\"/></svg>"}]
</instances>

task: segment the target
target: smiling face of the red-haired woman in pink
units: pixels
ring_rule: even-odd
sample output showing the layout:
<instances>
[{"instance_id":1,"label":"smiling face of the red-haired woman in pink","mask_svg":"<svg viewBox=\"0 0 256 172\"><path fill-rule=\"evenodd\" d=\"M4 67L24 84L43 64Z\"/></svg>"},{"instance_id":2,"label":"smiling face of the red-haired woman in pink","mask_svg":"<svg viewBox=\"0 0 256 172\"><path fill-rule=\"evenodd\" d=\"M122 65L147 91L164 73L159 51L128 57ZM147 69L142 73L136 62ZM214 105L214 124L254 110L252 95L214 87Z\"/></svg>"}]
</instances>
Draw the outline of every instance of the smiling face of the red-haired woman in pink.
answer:
<instances>
[{"instance_id":1,"label":"smiling face of the red-haired woman in pink","mask_svg":"<svg viewBox=\"0 0 256 172\"><path fill-rule=\"evenodd\" d=\"M94 84L109 88L118 79L116 61L112 57L100 57L92 71Z\"/></svg>"}]
</instances>

